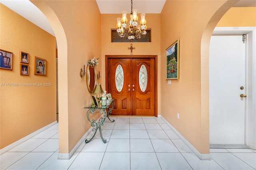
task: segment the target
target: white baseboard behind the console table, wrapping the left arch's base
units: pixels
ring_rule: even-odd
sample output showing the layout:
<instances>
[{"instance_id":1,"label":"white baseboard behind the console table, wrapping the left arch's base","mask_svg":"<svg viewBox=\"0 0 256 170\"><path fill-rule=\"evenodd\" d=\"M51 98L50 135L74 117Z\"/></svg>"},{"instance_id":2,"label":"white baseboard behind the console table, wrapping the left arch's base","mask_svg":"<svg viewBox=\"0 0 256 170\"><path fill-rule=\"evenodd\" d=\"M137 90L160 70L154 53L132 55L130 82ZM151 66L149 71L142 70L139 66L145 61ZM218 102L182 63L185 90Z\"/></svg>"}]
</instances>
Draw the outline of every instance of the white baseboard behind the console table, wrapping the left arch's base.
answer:
<instances>
[{"instance_id":1,"label":"white baseboard behind the console table, wrapping the left arch's base","mask_svg":"<svg viewBox=\"0 0 256 170\"><path fill-rule=\"evenodd\" d=\"M96 120L96 122L98 122L100 120L101 116ZM60 160L69 160L71 158L71 156L76 152L76 150L79 148L79 146L85 142L85 139L87 138L87 136L92 132L92 129L95 127L90 127L89 130L87 130L87 132L84 134L84 136L82 136L82 138L76 143L76 145L74 146L74 148L72 148L72 150L68 153L68 154L62 154L59 153L58 154L58 159Z\"/></svg>"}]
</instances>

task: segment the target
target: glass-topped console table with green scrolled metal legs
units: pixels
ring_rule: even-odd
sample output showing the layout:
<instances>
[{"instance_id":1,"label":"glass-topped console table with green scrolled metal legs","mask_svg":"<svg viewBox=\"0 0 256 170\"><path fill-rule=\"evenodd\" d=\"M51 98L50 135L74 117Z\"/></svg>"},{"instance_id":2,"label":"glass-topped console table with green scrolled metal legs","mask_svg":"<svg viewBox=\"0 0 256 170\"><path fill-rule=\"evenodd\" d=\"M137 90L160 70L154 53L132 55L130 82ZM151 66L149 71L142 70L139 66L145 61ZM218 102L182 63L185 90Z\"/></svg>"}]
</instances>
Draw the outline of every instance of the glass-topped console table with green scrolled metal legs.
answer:
<instances>
[{"instance_id":1,"label":"glass-topped console table with green scrolled metal legs","mask_svg":"<svg viewBox=\"0 0 256 170\"><path fill-rule=\"evenodd\" d=\"M104 126L104 122L106 120L106 117L108 117L108 119L110 120L109 116L111 116L110 114L112 113L112 110L114 108L114 101L116 99L112 98L110 103L107 104L107 106L101 106L101 104L99 106L95 106L94 104L90 104L84 108L88 109L87 111L87 119L89 120L89 122L91 122L91 126L94 127L92 129L92 131L94 132L93 136L89 139L89 140L85 140L85 143L89 143L95 136L97 130L99 129L100 131L100 137L103 141L103 143L106 143L107 140L103 138L102 136L102 129L101 127ZM106 109L108 109L108 112L106 111ZM96 122L96 120L92 119L90 120L89 116L90 114L94 114L94 112L100 112L100 114L102 114L101 118L100 118L100 121L99 122ZM111 122L114 122L115 120L110 120Z\"/></svg>"}]
</instances>

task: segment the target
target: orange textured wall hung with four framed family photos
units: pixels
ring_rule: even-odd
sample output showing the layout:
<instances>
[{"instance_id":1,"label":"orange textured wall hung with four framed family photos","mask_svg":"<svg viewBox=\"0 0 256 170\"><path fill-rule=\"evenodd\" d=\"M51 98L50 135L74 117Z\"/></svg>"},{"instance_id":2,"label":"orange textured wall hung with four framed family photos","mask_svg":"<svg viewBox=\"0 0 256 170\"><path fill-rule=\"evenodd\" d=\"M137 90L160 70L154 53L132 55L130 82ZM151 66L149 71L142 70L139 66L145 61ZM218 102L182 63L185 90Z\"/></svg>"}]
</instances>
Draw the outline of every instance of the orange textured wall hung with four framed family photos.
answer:
<instances>
[{"instance_id":1,"label":"orange textured wall hung with four framed family photos","mask_svg":"<svg viewBox=\"0 0 256 170\"><path fill-rule=\"evenodd\" d=\"M55 37L0 4L0 49L13 53L12 70L0 69L0 148L56 121ZM29 75L20 75L20 51ZM47 60L47 76L34 75L34 56ZM17 83L18 86L4 86ZM51 86L24 84L51 83Z\"/></svg>"}]
</instances>

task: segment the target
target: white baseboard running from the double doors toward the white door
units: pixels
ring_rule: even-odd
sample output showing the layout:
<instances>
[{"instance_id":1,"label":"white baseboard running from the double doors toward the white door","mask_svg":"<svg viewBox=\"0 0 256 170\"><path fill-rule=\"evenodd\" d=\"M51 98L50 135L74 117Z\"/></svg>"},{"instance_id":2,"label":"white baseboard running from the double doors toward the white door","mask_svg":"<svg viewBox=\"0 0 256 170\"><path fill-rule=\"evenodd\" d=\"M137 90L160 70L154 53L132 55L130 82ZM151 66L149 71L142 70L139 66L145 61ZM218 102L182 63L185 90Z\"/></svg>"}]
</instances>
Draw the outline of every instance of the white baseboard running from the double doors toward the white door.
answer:
<instances>
[{"instance_id":1,"label":"white baseboard running from the double doors toward the white door","mask_svg":"<svg viewBox=\"0 0 256 170\"><path fill-rule=\"evenodd\" d=\"M188 142L165 118L158 114L160 118L164 120L164 122L176 133L176 135L200 158L200 160L211 160L210 154L201 154L192 144Z\"/></svg>"}]
</instances>

